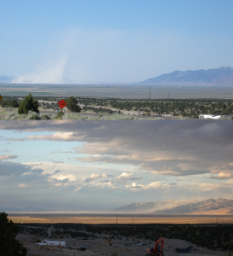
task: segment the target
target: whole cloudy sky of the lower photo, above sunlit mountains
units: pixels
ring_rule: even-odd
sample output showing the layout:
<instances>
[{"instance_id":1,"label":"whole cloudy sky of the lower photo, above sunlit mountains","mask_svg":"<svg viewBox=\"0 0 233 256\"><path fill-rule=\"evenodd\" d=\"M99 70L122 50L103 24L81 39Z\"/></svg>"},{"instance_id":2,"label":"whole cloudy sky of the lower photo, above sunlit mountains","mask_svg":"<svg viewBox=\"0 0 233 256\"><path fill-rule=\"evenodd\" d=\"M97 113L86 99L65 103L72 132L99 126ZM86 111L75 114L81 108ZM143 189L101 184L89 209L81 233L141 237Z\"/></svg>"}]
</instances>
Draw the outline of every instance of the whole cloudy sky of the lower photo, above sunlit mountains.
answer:
<instances>
[{"instance_id":1,"label":"whole cloudy sky of the lower photo, above sunlit mountains","mask_svg":"<svg viewBox=\"0 0 233 256\"><path fill-rule=\"evenodd\" d=\"M232 199L229 121L2 120L0 129L0 212Z\"/></svg>"}]
</instances>

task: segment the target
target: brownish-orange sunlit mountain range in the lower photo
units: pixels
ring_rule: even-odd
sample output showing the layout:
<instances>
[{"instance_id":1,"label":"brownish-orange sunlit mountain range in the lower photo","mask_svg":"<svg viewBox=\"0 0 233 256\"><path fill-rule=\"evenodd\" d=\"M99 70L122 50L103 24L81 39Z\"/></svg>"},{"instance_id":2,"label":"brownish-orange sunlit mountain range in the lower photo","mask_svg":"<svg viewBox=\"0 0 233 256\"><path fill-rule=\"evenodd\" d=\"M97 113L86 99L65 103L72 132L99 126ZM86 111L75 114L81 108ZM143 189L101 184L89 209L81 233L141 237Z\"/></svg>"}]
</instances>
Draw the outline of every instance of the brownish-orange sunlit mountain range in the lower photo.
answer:
<instances>
[{"instance_id":1,"label":"brownish-orange sunlit mountain range in the lower photo","mask_svg":"<svg viewBox=\"0 0 233 256\"><path fill-rule=\"evenodd\" d=\"M176 205L176 206L175 206ZM232 215L233 200L223 198L194 202L156 201L132 203L114 209L117 212L156 213L156 214L218 214Z\"/></svg>"}]
</instances>

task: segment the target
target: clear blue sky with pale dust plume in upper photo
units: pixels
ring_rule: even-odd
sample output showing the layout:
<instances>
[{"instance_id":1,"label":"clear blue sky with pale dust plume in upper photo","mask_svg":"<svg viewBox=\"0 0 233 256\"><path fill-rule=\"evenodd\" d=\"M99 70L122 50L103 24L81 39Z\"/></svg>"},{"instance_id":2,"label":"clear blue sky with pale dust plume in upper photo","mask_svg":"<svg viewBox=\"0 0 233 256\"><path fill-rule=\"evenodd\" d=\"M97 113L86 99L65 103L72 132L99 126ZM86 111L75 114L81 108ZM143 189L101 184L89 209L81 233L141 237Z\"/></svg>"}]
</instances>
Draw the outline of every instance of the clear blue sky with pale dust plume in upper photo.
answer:
<instances>
[{"instance_id":1,"label":"clear blue sky with pale dust plume in upper photo","mask_svg":"<svg viewBox=\"0 0 233 256\"><path fill-rule=\"evenodd\" d=\"M0 75L136 83L233 67L231 0L0 0Z\"/></svg>"}]
</instances>

